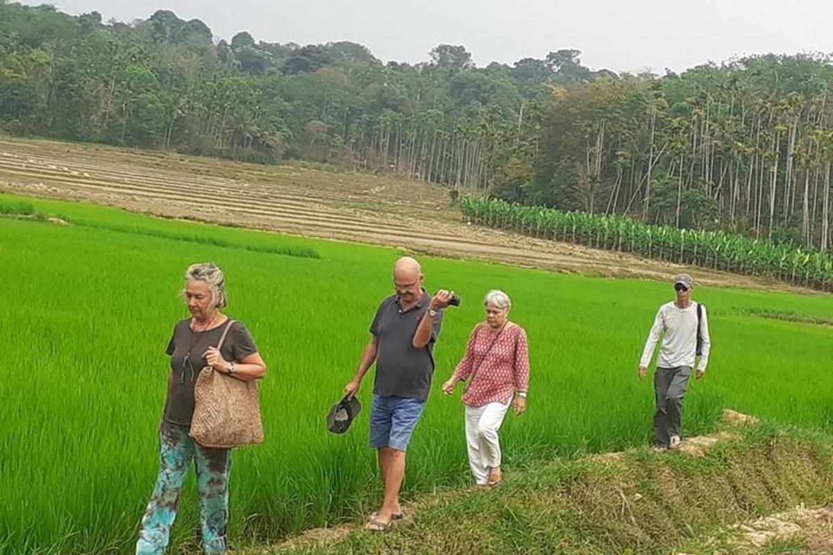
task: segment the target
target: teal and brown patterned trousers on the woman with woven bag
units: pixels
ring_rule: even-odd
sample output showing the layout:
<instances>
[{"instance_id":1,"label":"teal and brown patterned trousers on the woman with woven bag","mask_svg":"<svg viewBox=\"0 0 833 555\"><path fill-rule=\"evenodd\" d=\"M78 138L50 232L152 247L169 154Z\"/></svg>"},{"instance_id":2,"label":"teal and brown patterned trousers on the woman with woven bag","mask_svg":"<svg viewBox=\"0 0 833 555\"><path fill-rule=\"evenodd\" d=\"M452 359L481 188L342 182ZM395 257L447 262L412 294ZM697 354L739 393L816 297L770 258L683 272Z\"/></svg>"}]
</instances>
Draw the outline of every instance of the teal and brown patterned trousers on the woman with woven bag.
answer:
<instances>
[{"instance_id":1,"label":"teal and brown patterned trousers on the woman with woven bag","mask_svg":"<svg viewBox=\"0 0 833 555\"><path fill-rule=\"evenodd\" d=\"M187 426L164 422L159 429L159 444L159 476L142 517L137 555L165 553L177 518L182 482L192 460L197 467L202 550L207 555L226 553L231 449L202 447L188 436Z\"/></svg>"}]
</instances>

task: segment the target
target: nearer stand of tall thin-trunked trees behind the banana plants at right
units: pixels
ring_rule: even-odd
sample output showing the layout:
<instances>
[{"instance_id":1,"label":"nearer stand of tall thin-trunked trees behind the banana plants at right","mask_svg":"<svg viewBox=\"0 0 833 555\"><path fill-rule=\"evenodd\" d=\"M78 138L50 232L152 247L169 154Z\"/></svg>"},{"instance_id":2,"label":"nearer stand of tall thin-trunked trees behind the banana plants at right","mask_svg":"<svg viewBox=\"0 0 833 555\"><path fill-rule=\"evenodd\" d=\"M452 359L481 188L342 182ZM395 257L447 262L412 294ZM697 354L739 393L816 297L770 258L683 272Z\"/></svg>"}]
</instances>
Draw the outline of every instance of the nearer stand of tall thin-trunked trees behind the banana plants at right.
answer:
<instances>
[{"instance_id":1,"label":"nearer stand of tall thin-trunked trees behind the banana plants at right","mask_svg":"<svg viewBox=\"0 0 833 555\"><path fill-rule=\"evenodd\" d=\"M831 246L831 57L757 56L557 91L504 197Z\"/></svg>"}]
</instances>

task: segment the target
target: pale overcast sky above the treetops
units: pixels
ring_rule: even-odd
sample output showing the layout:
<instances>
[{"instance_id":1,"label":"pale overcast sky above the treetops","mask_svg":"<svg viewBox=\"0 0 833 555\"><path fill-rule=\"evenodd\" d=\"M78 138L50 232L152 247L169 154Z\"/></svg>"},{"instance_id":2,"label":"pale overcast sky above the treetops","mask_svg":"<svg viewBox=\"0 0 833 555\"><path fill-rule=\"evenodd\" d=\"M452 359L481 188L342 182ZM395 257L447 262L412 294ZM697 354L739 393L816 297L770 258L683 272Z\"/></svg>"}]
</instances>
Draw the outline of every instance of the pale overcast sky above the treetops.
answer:
<instances>
[{"instance_id":1,"label":"pale overcast sky above the treetops","mask_svg":"<svg viewBox=\"0 0 833 555\"><path fill-rule=\"evenodd\" d=\"M43 2L25 0L22 3ZM616 72L762 52L833 52L833 0L55 0L73 14L130 22L169 9L216 37L267 42L353 41L382 60L423 62L437 44L462 44L478 66L560 48Z\"/></svg>"}]
</instances>

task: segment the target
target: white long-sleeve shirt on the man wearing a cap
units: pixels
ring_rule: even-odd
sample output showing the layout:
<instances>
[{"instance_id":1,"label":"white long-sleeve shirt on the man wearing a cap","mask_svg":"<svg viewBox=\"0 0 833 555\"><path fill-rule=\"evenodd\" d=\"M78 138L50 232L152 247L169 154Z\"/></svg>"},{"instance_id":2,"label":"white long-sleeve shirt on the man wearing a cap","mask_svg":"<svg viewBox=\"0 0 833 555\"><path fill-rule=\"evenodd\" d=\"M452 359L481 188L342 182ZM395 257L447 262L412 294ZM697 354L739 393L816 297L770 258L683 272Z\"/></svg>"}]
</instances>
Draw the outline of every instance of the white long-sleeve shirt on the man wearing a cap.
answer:
<instances>
[{"instance_id":1,"label":"white long-sleeve shirt on the man wearing a cap","mask_svg":"<svg viewBox=\"0 0 833 555\"><path fill-rule=\"evenodd\" d=\"M701 336L703 338L703 355L697 369L705 371L711 350L711 338L706 317L706 307L702 308ZM640 366L651 364L654 349L661 335L662 345L656 365L661 368L689 366L694 368L697 349L697 303L691 302L686 309L678 308L674 303L662 305L656 313L654 325L642 351Z\"/></svg>"}]
</instances>

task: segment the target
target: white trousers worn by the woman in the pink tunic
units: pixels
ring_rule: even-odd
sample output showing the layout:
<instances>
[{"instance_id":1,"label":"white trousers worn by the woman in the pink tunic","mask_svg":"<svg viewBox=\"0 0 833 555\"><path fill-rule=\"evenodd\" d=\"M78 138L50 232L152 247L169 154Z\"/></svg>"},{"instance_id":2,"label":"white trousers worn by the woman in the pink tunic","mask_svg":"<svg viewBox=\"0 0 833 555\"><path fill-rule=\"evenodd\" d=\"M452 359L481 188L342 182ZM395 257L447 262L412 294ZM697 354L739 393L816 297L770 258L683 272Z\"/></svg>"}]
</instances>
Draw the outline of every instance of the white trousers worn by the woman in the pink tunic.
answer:
<instances>
[{"instance_id":1,"label":"white trousers worn by the woman in the pink tunic","mask_svg":"<svg viewBox=\"0 0 833 555\"><path fill-rule=\"evenodd\" d=\"M489 403L482 407L466 404L466 444L469 466L476 483L489 481L489 468L501 466L501 444L497 430L511 403Z\"/></svg>"}]
</instances>

